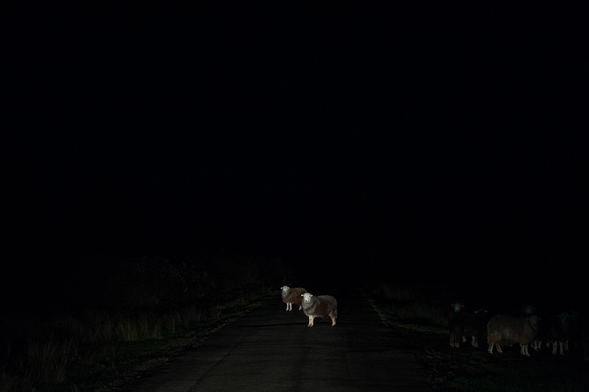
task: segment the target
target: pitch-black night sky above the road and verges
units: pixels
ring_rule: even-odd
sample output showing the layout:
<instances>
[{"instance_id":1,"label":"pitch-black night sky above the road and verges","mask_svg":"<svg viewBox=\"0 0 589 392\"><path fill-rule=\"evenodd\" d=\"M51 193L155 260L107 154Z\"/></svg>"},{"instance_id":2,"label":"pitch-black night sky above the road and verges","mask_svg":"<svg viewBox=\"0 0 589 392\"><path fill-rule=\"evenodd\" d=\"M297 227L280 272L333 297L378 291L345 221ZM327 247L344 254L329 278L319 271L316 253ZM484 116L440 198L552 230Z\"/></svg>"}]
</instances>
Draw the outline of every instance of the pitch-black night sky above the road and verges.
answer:
<instances>
[{"instance_id":1,"label":"pitch-black night sky above the road and verges","mask_svg":"<svg viewBox=\"0 0 589 392\"><path fill-rule=\"evenodd\" d=\"M583 10L213 3L2 6L2 259L586 280Z\"/></svg>"}]
</instances>

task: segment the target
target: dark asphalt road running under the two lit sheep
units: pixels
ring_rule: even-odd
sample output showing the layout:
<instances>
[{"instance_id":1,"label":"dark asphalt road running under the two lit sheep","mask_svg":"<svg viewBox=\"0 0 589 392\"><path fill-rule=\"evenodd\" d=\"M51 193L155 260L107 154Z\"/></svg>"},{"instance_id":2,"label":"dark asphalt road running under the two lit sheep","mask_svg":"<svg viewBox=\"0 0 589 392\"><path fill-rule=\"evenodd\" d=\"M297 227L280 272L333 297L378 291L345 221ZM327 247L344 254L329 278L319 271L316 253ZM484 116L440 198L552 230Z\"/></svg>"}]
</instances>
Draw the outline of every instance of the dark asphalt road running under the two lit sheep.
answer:
<instances>
[{"instance_id":1,"label":"dark asphalt road running under the two lit sheep","mask_svg":"<svg viewBox=\"0 0 589 392\"><path fill-rule=\"evenodd\" d=\"M317 318L307 327L298 306L284 309L277 292L128 391L431 391L411 343L387 329L365 298L338 299L333 327Z\"/></svg>"}]
</instances>

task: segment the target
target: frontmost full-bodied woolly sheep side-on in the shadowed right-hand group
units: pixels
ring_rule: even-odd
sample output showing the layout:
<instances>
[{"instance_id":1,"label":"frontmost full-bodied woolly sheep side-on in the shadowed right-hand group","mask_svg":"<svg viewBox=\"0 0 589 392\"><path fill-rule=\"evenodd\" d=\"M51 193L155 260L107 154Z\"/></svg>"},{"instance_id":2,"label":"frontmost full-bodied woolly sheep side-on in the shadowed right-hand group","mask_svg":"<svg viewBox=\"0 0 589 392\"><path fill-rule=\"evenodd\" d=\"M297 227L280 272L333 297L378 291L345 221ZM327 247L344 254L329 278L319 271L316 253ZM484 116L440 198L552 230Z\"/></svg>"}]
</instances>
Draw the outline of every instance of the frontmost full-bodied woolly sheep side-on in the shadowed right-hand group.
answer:
<instances>
[{"instance_id":1,"label":"frontmost full-bodied woolly sheep side-on in the shadowed right-hand group","mask_svg":"<svg viewBox=\"0 0 589 392\"><path fill-rule=\"evenodd\" d=\"M529 357L528 344L534 339L540 317L532 314L529 317L506 316L498 314L491 317L487 323L487 343L489 354L493 353L493 346L502 353L500 344L515 344L521 346L521 354Z\"/></svg>"}]
</instances>

